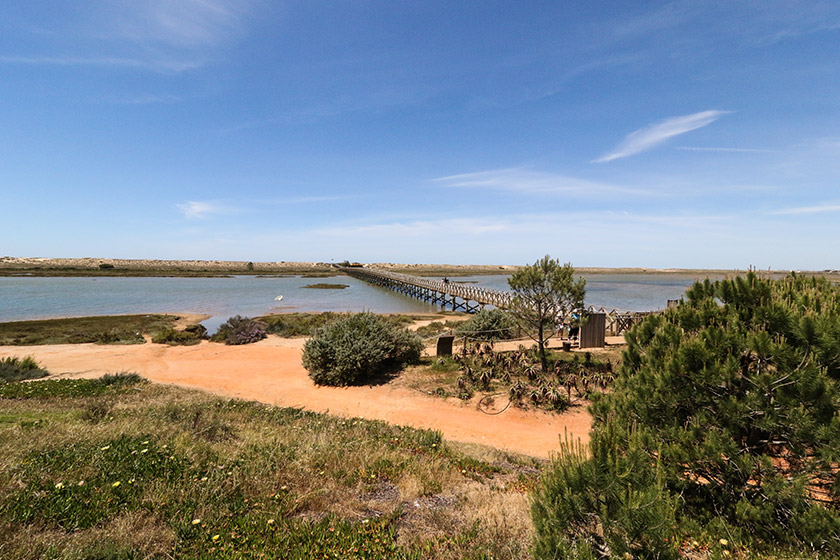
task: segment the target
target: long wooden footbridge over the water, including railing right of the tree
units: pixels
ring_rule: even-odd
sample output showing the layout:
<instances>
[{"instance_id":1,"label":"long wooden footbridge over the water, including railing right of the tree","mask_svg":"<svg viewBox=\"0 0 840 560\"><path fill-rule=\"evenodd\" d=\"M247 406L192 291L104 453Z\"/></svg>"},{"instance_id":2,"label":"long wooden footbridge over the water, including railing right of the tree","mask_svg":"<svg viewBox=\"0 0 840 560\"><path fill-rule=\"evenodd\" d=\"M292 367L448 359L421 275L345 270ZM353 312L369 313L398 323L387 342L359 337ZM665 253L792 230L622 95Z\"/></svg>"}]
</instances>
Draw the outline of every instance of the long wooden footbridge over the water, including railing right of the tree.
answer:
<instances>
[{"instance_id":1,"label":"long wooden footbridge over the water, including railing right of the tree","mask_svg":"<svg viewBox=\"0 0 840 560\"><path fill-rule=\"evenodd\" d=\"M361 267L338 267L344 274L358 278L370 284L389 288L396 292L422 299L429 303L439 303L442 307L451 306L453 311L462 309L468 313L474 313L484 309L485 305L492 305L500 309L508 309L513 299L513 294L502 290L484 288L481 286L469 286L455 282L444 282L432 278L411 276L387 270ZM603 307L596 308L589 306L588 313L603 313L606 315L606 332L611 335L619 335L629 329L646 315L656 313L655 311L633 312L619 311L617 309L607 310Z\"/></svg>"}]
</instances>

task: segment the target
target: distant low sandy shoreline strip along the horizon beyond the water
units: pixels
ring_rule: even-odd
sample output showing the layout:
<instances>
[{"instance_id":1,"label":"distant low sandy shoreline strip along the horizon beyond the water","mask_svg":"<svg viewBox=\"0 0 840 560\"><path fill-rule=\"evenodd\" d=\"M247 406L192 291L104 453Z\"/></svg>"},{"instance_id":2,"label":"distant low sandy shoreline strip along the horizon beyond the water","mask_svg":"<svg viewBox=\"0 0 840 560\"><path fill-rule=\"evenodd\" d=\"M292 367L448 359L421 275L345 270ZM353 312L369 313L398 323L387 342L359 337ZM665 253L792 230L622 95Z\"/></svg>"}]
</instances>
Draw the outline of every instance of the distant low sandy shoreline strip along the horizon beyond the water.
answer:
<instances>
[{"instance_id":1,"label":"distant low sandy shoreline strip along the horizon beyond the water","mask_svg":"<svg viewBox=\"0 0 840 560\"><path fill-rule=\"evenodd\" d=\"M453 265L368 263L364 266L417 276L474 276L512 274L520 265ZM575 267L581 274L673 274L689 276L728 276L744 274L743 269L691 269L646 267ZM761 274L785 276L789 270L760 270ZM808 275L840 278L840 270L796 271ZM340 274L325 262L251 262L219 260L161 260L109 258L0 257L0 276L185 276L223 277L231 275L311 275Z\"/></svg>"}]
</instances>

